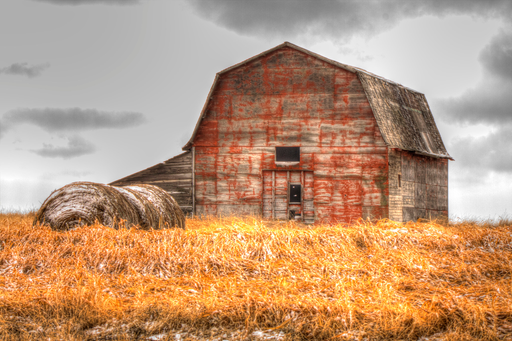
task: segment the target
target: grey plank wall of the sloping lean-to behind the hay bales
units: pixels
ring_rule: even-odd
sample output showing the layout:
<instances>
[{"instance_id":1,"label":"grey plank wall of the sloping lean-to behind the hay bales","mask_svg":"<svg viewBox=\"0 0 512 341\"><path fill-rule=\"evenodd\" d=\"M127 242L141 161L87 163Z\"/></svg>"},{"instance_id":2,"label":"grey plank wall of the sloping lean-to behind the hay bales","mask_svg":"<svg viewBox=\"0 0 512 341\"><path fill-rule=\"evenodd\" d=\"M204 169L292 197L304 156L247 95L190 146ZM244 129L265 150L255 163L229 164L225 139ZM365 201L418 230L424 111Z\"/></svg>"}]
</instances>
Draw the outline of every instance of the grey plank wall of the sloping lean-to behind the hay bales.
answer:
<instances>
[{"instance_id":1,"label":"grey plank wall of the sloping lean-to behind the hay bales","mask_svg":"<svg viewBox=\"0 0 512 341\"><path fill-rule=\"evenodd\" d=\"M192 212L192 153L187 152L111 183L114 186L155 185L172 196L183 212Z\"/></svg>"}]
</instances>

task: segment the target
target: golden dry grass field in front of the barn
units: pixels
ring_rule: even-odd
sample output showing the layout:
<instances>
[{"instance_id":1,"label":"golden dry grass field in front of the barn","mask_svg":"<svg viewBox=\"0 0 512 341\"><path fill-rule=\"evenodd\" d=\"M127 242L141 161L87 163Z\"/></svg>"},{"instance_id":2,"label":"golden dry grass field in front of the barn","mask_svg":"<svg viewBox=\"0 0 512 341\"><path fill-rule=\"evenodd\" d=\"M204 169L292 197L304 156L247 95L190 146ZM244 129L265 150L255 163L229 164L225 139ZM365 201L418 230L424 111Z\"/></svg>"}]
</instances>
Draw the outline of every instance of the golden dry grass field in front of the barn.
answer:
<instances>
[{"instance_id":1,"label":"golden dry grass field in front of the barn","mask_svg":"<svg viewBox=\"0 0 512 341\"><path fill-rule=\"evenodd\" d=\"M32 219L0 215L1 340L512 340L510 221Z\"/></svg>"}]
</instances>

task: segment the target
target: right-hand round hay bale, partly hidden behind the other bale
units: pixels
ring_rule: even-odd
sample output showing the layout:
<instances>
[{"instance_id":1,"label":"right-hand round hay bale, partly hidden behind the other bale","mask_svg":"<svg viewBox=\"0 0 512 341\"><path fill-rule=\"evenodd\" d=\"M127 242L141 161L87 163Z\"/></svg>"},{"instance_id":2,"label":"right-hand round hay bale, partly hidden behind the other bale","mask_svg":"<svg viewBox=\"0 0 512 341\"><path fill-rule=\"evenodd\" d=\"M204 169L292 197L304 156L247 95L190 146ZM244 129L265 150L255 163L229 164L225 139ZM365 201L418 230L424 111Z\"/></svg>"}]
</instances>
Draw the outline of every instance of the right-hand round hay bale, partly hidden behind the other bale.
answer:
<instances>
[{"instance_id":1,"label":"right-hand round hay bale, partly hidden behind the other bale","mask_svg":"<svg viewBox=\"0 0 512 341\"><path fill-rule=\"evenodd\" d=\"M117 187L117 189L137 209L142 228L179 227L185 229L183 211L176 200L162 188L142 184Z\"/></svg>"}]
</instances>

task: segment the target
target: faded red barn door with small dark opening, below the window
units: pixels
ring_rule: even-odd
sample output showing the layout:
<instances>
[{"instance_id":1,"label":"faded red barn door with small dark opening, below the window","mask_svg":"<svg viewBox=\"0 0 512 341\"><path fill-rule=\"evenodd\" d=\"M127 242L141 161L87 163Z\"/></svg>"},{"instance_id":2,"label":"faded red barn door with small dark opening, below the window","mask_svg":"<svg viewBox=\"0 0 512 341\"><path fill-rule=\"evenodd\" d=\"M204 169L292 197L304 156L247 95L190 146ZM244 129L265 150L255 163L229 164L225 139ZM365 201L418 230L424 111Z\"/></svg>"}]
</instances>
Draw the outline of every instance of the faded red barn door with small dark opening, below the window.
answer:
<instances>
[{"instance_id":1,"label":"faded red barn door with small dark opening, below the window","mask_svg":"<svg viewBox=\"0 0 512 341\"><path fill-rule=\"evenodd\" d=\"M313 172L263 171L263 218L314 222Z\"/></svg>"}]
</instances>

